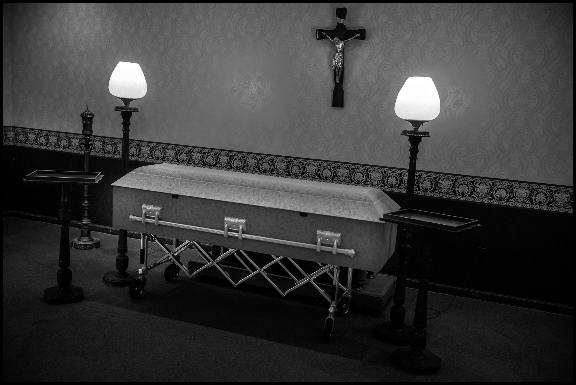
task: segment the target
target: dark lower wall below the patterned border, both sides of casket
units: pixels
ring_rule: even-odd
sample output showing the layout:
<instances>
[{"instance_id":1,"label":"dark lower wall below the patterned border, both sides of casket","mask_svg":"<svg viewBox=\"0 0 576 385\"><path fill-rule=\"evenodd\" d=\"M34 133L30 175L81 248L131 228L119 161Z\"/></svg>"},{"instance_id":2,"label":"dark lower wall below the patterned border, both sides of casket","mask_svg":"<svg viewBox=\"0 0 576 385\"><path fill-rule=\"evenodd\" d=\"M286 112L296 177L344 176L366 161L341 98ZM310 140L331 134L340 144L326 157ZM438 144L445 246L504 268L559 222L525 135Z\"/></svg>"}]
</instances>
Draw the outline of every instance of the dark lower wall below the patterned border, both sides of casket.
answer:
<instances>
[{"instance_id":1,"label":"dark lower wall below the patterned border, both sides of casket","mask_svg":"<svg viewBox=\"0 0 576 385\"><path fill-rule=\"evenodd\" d=\"M4 146L3 162L5 180L10 183L9 188L4 185L5 190L12 194L3 200L3 211L51 217L58 216L58 186L23 183L22 179L38 169L80 171L84 167L81 153L25 146ZM150 163L130 161L130 170ZM90 170L105 175L100 183L90 187L90 220L112 226L111 183L120 176L120 159L90 157ZM72 219L80 221L82 189L78 186L71 193ZM386 193L402 203L403 194ZM431 282L460 287L467 278L465 288L573 306L573 215L422 195L415 197L415 208L473 218L481 224L468 232L434 234ZM74 231L71 229L71 236ZM413 234L408 277L418 278L422 230L415 228ZM480 247L488 249L483 257ZM129 251L128 255L136 256L137 251ZM395 253L382 273L396 275L396 266Z\"/></svg>"}]
</instances>

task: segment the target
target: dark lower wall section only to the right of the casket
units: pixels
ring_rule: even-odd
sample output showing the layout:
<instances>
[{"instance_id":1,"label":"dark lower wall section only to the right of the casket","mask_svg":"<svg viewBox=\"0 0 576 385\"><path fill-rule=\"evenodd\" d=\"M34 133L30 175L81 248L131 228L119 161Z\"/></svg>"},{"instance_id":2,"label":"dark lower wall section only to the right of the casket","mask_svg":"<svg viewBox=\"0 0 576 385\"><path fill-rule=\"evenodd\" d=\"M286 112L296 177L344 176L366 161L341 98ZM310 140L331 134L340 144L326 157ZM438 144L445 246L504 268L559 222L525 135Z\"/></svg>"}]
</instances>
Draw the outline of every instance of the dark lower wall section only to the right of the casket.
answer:
<instances>
[{"instance_id":1,"label":"dark lower wall section only to the right of the casket","mask_svg":"<svg viewBox=\"0 0 576 385\"><path fill-rule=\"evenodd\" d=\"M403 199L388 194L396 202ZM574 305L573 215L430 197L415 197L414 208L480 223L461 233L432 230L431 282ZM418 227L412 231L410 278L418 278L425 231ZM487 251L481 253L480 248ZM382 272L396 275L396 271L395 253Z\"/></svg>"}]
</instances>

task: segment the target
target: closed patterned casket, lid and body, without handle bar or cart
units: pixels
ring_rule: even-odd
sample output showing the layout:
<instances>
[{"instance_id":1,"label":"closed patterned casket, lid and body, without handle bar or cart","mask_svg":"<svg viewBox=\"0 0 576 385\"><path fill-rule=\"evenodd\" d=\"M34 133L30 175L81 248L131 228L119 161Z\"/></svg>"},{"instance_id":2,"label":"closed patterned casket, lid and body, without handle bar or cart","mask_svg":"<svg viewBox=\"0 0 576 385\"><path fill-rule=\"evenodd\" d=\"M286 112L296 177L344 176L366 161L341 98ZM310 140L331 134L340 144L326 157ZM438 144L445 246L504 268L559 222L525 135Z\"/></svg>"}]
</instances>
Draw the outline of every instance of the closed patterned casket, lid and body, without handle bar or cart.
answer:
<instances>
[{"instance_id":1,"label":"closed patterned casket, lid and body, without handle bar or cart","mask_svg":"<svg viewBox=\"0 0 576 385\"><path fill-rule=\"evenodd\" d=\"M387 199L384 199L381 196L384 193L380 190L368 188L368 193L372 193L367 194L369 198L365 198L365 191L360 192L360 198L353 194L355 199L375 200L378 205L374 205L373 202L342 199L343 196L350 196L347 191L353 191L356 186L238 174L172 164L138 168L113 183L113 226L133 232L369 271L380 271L392 255L396 225L377 218L378 211L394 211L398 206L389 197L385 196ZM216 183L215 180L222 183ZM276 180L281 186L276 186ZM332 186L335 188L330 188ZM323 196L298 192L302 190ZM174 198L173 194L178 197ZM218 234L128 220L131 214L141 216L143 204L161 206L162 221L223 230L224 217L241 218L247 220L246 234L307 244L316 244L316 230L342 233L339 248L354 249L355 256L333 255L325 251L316 252L313 249L246 238L238 240L234 236L225 238ZM321 214L323 210L332 215ZM370 213L369 210L374 212ZM300 213L306 213L306 216Z\"/></svg>"}]
</instances>

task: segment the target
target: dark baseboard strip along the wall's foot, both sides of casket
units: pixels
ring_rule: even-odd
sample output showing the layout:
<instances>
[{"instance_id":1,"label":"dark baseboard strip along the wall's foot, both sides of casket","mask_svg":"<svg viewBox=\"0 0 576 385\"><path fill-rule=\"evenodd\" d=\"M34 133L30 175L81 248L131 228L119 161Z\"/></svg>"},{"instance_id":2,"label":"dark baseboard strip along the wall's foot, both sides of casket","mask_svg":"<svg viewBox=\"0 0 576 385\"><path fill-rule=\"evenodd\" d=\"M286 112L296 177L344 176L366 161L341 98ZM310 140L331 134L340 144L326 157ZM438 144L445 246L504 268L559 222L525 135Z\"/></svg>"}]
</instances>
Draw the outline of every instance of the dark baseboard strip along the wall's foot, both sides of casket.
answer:
<instances>
[{"instance_id":1,"label":"dark baseboard strip along the wall's foot, both sides of casket","mask_svg":"<svg viewBox=\"0 0 576 385\"><path fill-rule=\"evenodd\" d=\"M2 212L2 218L8 217L17 217L31 221L40 221L46 222L50 224L59 225L60 221L56 217L50 217L49 215L40 215L40 214L31 214L25 213L24 211L18 210L7 210ZM71 228L82 228L82 222L79 221L70 221ZM90 224L88 225L91 231L96 231L105 234L112 234L118 235L119 229L111 228L109 226L104 225L96 225ZM139 239L140 233L135 232L127 232L128 237ZM162 242L172 243L172 240L169 238L158 237ZM389 277L394 277L388 274L382 274ZM418 288L418 279L407 278L406 279L406 286L410 288ZM517 307L525 307L527 309L535 309L541 311L547 311L548 313L556 313L556 314L566 314L566 315L574 315L574 306L562 305L560 303L553 303L553 302L545 302L545 301L537 301L535 299L529 298L522 298L522 297L513 297L511 295L505 294L498 294L489 291L482 291L482 290L474 290L469 288L460 288L456 286L445 285L441 283L433 283L430 282L428 284L428 290L431 292L437 292L439 294L448 294L448 295L458 295L458 297L464 298L473 298L478 299L480 301L486 302L494 302L494 303L501 303L502 305L510 305L510 306L517 306Z\"/></svg>"}]
</instances>

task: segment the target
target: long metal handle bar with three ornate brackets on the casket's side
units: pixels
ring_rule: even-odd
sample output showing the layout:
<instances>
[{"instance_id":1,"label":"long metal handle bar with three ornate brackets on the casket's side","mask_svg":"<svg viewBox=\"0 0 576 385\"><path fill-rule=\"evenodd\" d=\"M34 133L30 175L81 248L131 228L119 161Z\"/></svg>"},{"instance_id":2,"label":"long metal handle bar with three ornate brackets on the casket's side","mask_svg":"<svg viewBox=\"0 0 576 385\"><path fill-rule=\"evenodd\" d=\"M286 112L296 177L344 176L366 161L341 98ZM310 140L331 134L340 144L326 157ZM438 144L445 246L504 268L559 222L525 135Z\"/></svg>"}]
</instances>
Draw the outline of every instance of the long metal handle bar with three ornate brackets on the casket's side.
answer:
<instances>
[{"instance_id":1,"label":"long metal handle bar with three ornate brackets on the casket's side","mask_svg":"<svg viewBox=\"0 0 576 385\"><path fill-rule=\"evenodd\" d=\"M252 235L252 234L245 234L244 232L246 231L246 222L245 220L238 220L238 218L228 218L225 217L226 219L229 220L238 220L238 221L244 221L244 223L242 222L234 222L234 224L237 226L237 230L238 232L231 232L230 230L233 229L233 221L230 221L228 223L225 222L224 224L224 230L217 230L217 229L209 229L209 228L203 228L200 226L193 226L193 225L185 225L185 224L178 224L175 222L168 222L168 221L160 221L158 219L158 217L161 217L162 214L160 212L160 210L158 211L154 211L154 215L148 214L145 206L147 207L154 207L155 209L160 209L161 207L156 207L156 206L149 206L149 205L142 205L142 217L137 217L136 215L130 215L130 221L135 222L135 221L141 221L142 223L153 223L154 225L158 226L158 225L162 225L162 226L172 226L172 227L177 227L180 229L187 229L187 230L196 230L196 231L201 231L204 233L211 233L211 234L218 234L218 235L223 235L225 237L229 237L229 236L234 236L234 237L238 237L238 239L249 239L249 240L255 240L255 241L264 241L264 242L270 242L270 243L276 243L276 244L281 244L281 245L287 245L287 246L295 246L295 247L302 247L302 248L306 248L306 249L315 249L316 251L320 252L320 251L328 251L328 252L332 252L333 254L344 254L347 255L349 257L353 257L356 252L354 251L354 249L340 249L337 247L337 245L340 244L340 234L339 233L331 233L331 234L337 234L338 235L338 239L334 238L331 242L331 247L328 246L322 246L318 244L308 244L308 243L303 243L303 242L296 242L296 241L288 241L288 240L283 240L283 239L276 239L276 238L268 238L268 237L262 237L262 236L257 236L257 235ZM146 213L146 215L145 215ZM154 219L152 218L148 218L148 217L154 217ZM329 232L321 232L321 233L329 233ZM316 232L317 234L317 240L318 238L321 238L320 236L318 236L319 232ZM325 243L324 238L321 238L320 242L321 243Z\"/></svg>"}]
</instances>

